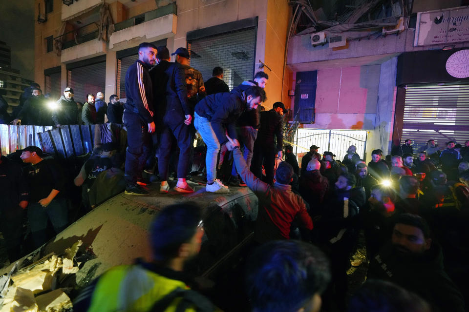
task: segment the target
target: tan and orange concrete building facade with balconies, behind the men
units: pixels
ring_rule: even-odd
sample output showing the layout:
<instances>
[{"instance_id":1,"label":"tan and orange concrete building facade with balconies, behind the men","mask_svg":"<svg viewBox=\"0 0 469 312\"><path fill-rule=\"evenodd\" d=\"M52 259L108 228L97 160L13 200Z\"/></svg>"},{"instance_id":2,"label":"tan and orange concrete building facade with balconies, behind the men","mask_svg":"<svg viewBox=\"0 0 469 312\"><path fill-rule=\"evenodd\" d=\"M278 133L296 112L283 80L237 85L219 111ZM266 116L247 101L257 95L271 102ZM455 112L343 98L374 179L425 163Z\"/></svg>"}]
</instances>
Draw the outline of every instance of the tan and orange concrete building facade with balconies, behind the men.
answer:
<instances>
[{"instance_id":1,"label":"tan and orange concrete building facade with balconies, behind the men","mask_svg":"<svg viewBox=\"0 0 469 312\"><path fill-rule=\"evenodd\" d=\"M36 0L36 6L42 0ZM68 1L70 2L70 1ZM81 98L103 91L108 98L122 93L123 75L141 42L188 47L197 40L223 39L253 29L252 51L219 53L206 66L221 66L223 58L249 61L249 79L258 70L269 74L267 107L287 98L283 84L284 56L291 8L284 0L80 0L69 5L53 0L45 23L35 26L35 81L54 97L69 84ZM99 38L100 39L99 39ZM189 40L188 40L189 39ZM195 51L192 65L208 48ZM266 64L262 69L259 65ZM212 66L213 65L213 66ZM230 66L227 63L226 66ZM230 68L225 71L230 73ZM270 68L270 70L267 69ZM198 68L197 68L198 69ZM200 70L200 69L199 69ZM202 70L201 70L202 71ZM202 71L204 80L211 77ZM231 83L239 81L234 73ZM242 76L242 75L241 75ZM238 80L236 80L236 77ZM227 83L230 82L227 80ZM81 86L74 86L73 84ZM59 91L57 91L59 90ZM123 98L123 95L120 95Z\"/></svg>"}]
</instances>

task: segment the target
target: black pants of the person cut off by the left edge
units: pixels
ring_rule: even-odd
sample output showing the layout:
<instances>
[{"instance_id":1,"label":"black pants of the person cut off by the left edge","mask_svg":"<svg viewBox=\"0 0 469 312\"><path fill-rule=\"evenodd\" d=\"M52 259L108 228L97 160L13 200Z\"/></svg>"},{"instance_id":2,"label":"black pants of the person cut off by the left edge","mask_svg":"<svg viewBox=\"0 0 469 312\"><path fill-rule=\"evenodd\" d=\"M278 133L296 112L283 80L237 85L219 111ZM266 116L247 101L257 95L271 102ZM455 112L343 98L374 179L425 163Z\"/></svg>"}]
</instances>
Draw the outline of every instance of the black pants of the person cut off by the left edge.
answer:
<instances>
[{"instance_id":1,"label":"black pants of the person cut off by the left edge","mask_svg":"<svg viewBox=\"0 0 469 312\"><path fill-rule=\"evenodd\" d=\"M3 207L0 212L0 231L5 239L10 263L21 258L24 212L20 206Z\"/></svg>"}]
</instances>

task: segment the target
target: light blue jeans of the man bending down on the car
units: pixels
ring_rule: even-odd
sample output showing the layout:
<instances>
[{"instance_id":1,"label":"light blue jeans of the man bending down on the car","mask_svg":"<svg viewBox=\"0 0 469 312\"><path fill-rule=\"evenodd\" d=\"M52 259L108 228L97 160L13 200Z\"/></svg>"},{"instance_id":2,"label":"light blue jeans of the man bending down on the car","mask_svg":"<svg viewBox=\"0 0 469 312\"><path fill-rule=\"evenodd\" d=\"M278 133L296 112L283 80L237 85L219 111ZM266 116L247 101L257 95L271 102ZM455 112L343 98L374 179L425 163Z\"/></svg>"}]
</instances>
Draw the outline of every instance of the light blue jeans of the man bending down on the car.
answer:
<instances>
[{"instance_id":1,"label":"light blue jeans of the man bending down on the car","mask_svg":"<svg viewBox=\"0 0 469 312\"><path fill-rule=\"evenodd\" d=\"M207 167L207 183L213 183L216 179L216 159L220 151L220 142L213 131L210 120L200 117L194 113L194 126L207 145L207 156L205 156L205 165Z\"/></svg>"}]
</instances>

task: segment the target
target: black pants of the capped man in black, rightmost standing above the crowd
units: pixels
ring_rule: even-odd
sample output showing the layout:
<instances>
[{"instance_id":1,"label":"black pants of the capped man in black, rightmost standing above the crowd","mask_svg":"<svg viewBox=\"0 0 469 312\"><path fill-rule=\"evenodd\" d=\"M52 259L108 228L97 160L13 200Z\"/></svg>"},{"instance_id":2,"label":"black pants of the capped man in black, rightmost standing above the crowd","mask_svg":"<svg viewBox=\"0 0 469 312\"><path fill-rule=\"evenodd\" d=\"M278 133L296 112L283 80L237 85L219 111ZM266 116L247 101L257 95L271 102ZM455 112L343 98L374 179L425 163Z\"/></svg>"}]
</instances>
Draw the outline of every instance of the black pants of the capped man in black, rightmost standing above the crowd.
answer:
<instances>
[{"instance_id":1,"label":"black pants of the capped man in black, rightmost standing above the crowd","mask_svg":"<svg viewBox=\"0 0 469 312\"><path fill-rule=\"evenodd\" d=\"M275 168L275 156L277 155L277 149L274 145L264 146L254 144L253 160L251 162L251 171L259 179L262 179L262 164L265 169L265 183L273 184L274 182L274 168Z\"/></svg>"}]
</instances>

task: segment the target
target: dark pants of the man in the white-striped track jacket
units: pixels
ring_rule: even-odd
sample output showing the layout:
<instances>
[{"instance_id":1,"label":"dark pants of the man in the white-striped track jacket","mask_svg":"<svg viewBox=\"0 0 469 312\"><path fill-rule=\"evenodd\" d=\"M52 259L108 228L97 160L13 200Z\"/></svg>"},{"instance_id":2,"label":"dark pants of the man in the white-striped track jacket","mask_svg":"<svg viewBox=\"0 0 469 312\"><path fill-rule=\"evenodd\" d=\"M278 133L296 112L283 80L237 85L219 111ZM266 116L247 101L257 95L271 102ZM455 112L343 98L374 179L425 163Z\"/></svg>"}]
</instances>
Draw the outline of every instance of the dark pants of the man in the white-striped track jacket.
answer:
<instances>
[{"instance_id":1,"label":"dark pants of the man in the white-striped track jacket","mask_svg":"<svg viewBox=\"0 0 469 312\"><path fill-rule=\"evenodd\" d=\"M151 138L147 122L138 114L124 112L124 125L127 129L125 179L127 185L135 185L142 177L150 151Z\"/></svg>"}]
</instances>

